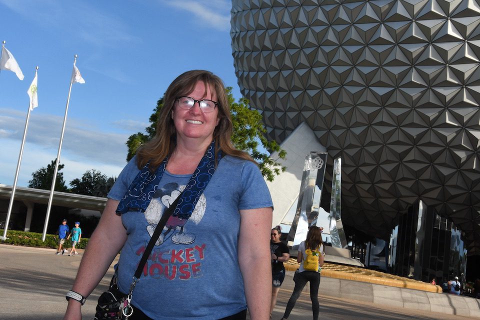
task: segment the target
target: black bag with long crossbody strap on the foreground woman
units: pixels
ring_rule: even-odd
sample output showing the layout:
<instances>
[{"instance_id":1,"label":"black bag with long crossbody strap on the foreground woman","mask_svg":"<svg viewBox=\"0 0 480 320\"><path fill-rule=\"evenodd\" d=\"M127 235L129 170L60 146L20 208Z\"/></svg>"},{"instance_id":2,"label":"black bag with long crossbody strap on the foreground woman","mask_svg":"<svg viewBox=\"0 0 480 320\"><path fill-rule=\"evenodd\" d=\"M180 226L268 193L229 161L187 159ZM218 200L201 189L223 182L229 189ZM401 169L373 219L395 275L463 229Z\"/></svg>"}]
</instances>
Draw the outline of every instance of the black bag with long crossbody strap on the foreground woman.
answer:
<instances>
[{"instance_id":1,"label":"black bag with long crossbody strap on the foreground woman","mask_svg":"<svg viewBox=\"0 0 480 320\"><path fill-rule=\"evenodd\" d=\"M163 230L166 220L171 216L173 210L176 208L176 204L178 203L180 195L178 195L175 201L173 201L173 203L161 215L161 218L156 225L155 231L153 231L150 241L148 241L145 251L143 251L140 262L138 262L138 266L136 268L135 274L133 275L133 281L130 284L130 289L128 293L125 294L118 290L116 282L116 274L118 269L115 270L115 274L113 274L113 277L110 281L110 288L100 294L100 296L98 297L98 303L96 304L96 313L93 317L93 320L128 320L128 318L133 314L133 307L130 305L131 294L133 292L133 289L135 288L136 283L140 279L143 266L145 265L146 260L148 259L148 256L153 249L156 239L158 239L158 236Z\"/></svg>"}]
</instances>

